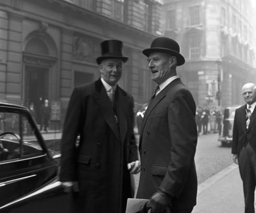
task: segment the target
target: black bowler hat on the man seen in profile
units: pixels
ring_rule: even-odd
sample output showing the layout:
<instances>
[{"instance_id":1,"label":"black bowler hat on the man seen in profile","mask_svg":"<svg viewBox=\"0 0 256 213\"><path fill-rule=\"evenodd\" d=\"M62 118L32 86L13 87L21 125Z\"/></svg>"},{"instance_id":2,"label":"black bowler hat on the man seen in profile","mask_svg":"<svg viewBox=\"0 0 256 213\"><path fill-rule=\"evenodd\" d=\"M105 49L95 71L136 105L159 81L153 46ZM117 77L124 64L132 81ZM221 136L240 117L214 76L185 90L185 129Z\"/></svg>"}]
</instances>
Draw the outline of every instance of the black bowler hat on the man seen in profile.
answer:
<instances>
[{"instance_id":1,"label":"black bowler hat on the man seen in profile","mask_svg":"<svg viewBox=\"0 0 256 213\"><path fill-rule=\"evenodd\" d=\"M185 63L185 58L180 54L179 44L171 38L159 37L152 41L150 48L144 49L142 53L149 57L150 53L162 52L177 57L177 66Z\"/></svg>"}]
</instances>

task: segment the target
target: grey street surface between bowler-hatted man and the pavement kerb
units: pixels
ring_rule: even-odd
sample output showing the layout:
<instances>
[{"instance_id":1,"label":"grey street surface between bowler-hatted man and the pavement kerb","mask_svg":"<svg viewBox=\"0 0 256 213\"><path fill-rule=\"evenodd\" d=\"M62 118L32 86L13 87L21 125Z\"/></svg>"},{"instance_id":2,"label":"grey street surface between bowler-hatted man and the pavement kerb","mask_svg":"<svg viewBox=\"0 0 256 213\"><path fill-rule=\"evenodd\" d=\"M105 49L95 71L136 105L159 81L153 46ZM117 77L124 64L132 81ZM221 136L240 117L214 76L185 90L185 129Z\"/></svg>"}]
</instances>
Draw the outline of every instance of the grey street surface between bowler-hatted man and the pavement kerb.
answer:
<instances>
[{"instance_id":1,"label":"grey street surface between bowler-hatted man and the pavement kerb","mask_svg":"<svg viewBox=\"0 0 256 213\"><path fill-rule=\"evenodd\" d=\"M139 135L136 135L137 141ZM195 155L198 184L207 180L222 169L233 164L231 147L222 147L218 141L218 133L200 135L197 141ZM135 185L138 187L139 174L134 176ZM137 189L136 187L136 189Z\"/></svg>"}]
</instances>

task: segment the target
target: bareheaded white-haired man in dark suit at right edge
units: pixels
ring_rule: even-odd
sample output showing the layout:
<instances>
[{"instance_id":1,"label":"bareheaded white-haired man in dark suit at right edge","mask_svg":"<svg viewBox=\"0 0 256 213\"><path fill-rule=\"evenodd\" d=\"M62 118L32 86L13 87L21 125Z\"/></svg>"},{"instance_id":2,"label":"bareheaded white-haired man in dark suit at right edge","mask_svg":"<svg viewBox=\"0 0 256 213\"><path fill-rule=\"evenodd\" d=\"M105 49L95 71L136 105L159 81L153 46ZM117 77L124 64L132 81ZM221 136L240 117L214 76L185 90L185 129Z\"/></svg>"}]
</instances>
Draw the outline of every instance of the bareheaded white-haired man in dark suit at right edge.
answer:
<instances>
[{"instance_id":1,"label":"bareheaded white-haired man in dark suit at right edge","mask_svg":"<svg viewBox=\"0 0 256 213\"><path fill-rule=\"evenodd\" d=\"M242 88L245 105L236 109L232 154L238 164L243 181L245 213L254 213L254 191L256 185L256 92L254 83L246 83Z\"/></svg>"}]
</instances>

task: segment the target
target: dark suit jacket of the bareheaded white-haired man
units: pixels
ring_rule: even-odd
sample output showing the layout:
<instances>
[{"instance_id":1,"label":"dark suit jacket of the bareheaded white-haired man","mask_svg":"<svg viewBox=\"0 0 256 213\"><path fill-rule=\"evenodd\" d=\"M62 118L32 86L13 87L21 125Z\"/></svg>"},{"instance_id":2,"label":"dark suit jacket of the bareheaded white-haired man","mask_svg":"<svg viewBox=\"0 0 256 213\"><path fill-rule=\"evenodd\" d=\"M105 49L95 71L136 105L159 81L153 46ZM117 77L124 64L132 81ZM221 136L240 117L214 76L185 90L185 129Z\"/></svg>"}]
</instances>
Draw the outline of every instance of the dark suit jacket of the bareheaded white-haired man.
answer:
<instances>
[{"instance_id":1,"label":"dark suit jacket of the bareheaded white-haired man","mask_svg":"<svg viewBox=\"0 0 256 213\"><path fill-rule=\"evenodd\" d=\"M232 154L237 154L238 157L242 147L247 143L250 143L253 150L256 152L256 109L253 110L248 129L246 129L245 109L246 104L236 109L234 118L231 152Z\"/></svg>"}]
</instances>

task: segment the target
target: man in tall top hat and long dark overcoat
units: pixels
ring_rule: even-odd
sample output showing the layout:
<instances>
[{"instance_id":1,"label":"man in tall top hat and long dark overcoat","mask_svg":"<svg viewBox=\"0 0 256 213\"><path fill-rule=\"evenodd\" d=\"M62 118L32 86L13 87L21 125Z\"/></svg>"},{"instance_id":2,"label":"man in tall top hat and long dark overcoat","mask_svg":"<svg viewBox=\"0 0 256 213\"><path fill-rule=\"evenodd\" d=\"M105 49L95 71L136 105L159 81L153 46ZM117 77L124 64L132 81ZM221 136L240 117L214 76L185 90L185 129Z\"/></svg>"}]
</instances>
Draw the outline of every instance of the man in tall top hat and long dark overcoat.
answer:
<instances>
[{"instance_id":1,"label":"man in tall top hat and long dark overcoat","mask_svg":"<svg viewBox=\"0 0 256 213\"><path fill-rule=\"evenodd\" d=\"M72 212L125 212L127 198L132 197L130 173L140 171L133 98L117 85L128 59L122 55L122 44L119 40L101 43L100 79L76 87L69 101L60 181L73 189L78 186Z\"/></svg>"}]
</instances>

